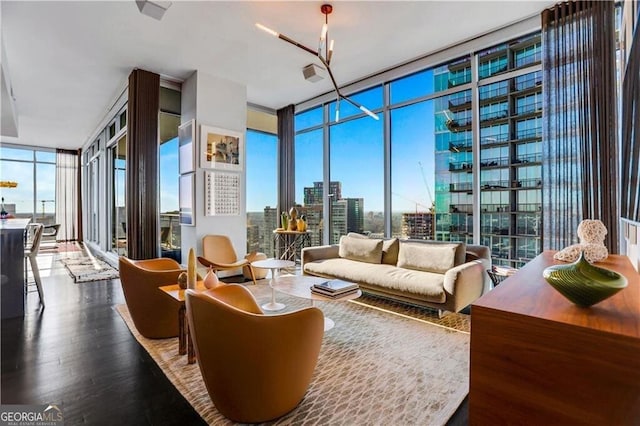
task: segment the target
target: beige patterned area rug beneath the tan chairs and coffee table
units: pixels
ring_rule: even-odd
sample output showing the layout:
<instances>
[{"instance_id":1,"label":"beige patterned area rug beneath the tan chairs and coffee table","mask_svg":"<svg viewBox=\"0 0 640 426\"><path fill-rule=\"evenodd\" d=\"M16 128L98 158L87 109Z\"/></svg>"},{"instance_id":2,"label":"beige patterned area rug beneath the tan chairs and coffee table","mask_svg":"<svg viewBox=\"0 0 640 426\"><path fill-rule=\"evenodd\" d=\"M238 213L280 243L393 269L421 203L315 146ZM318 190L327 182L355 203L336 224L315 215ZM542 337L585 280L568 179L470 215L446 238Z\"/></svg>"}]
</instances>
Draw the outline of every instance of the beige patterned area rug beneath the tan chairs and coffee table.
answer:
<instances>
[{"instance_id":1,"label":"beige patterned area rug beneath the tan chairs and coffee table","mask_svg":"<svg viewBox=\"0 0 640 426\"><path fill-rule=\"evenodd\" d=\"M247 286L260 303L266 285ZM282 311L308 301L282 294ZM325 333L309 390L292 412L271 422L442 425L468 393L469 334L352 302L317 303L335 327ZM116 307L132 334L209 424L233 424L209 399L197 364L178 355L177 339L142 337L125 305ZM265 365L265 368L268 368Z\"/></svg>"}]
</instances>

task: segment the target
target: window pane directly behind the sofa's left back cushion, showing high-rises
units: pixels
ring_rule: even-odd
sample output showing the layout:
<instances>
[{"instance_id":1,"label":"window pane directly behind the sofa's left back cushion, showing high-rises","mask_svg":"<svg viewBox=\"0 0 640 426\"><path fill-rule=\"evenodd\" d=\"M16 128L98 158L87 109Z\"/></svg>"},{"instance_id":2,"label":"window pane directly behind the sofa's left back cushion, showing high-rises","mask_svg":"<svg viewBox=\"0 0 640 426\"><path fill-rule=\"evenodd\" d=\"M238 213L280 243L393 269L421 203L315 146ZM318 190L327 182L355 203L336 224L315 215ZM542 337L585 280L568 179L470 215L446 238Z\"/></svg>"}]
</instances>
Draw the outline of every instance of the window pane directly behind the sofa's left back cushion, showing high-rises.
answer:
<instances>
[{"instance_id":1,"label":"window pane directly behind the sofa's left back cushion, showing high-rises","mask_svg":"<svg viewBox=\"0 0 640 426\"><path fill-rule=\"evenodd\" d=\"M370 117L330 129L333 196L330 243L348 232L384 235L384 146L382 121ZM333 187L335 182L336 188ZM366 203L366 204L365 204Z\"/></svg>"}]
</instances>

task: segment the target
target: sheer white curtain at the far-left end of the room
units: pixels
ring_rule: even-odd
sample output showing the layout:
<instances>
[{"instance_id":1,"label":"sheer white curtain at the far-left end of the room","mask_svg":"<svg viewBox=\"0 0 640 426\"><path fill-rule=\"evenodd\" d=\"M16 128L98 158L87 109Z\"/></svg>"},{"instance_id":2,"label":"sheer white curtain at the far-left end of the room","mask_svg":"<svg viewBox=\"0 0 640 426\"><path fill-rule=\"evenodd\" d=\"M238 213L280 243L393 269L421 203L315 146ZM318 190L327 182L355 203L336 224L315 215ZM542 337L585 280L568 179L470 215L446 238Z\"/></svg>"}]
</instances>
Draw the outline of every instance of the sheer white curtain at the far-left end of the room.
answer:
<instances>
[{"instance_id":1,"label":"sheer white curtain at the far-left end of the room","mask_svg":"<svg viewBox=\"0 0 640 426\"><path fill-rule=\"evenodd\" d=\"M62 241L75 241L80 235L79 158L76 151L56 151L56 222L60 224L57 238Z\"/></svg>"}]
</instances>

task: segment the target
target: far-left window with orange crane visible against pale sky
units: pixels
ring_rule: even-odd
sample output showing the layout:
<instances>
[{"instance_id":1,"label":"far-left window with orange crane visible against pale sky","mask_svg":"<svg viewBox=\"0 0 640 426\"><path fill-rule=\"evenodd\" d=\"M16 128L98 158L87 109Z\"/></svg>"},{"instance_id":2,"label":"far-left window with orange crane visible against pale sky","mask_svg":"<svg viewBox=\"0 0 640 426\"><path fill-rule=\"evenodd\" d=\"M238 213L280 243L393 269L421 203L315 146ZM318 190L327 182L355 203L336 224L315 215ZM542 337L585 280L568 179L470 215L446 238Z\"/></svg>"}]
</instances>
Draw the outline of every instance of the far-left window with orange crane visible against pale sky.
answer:
<instances>
[{"instance_id":1,"label":"far-left window with orange crane visible against pale sky","mask_svg":"<svg viewBox=\"0 0 640 426\"><path fill-rule=\"evenodd\" d=\"M55 223L55 150L0 146L0 181L0 197L7 213L44 224Z\"/></svg>"}]
</instances>

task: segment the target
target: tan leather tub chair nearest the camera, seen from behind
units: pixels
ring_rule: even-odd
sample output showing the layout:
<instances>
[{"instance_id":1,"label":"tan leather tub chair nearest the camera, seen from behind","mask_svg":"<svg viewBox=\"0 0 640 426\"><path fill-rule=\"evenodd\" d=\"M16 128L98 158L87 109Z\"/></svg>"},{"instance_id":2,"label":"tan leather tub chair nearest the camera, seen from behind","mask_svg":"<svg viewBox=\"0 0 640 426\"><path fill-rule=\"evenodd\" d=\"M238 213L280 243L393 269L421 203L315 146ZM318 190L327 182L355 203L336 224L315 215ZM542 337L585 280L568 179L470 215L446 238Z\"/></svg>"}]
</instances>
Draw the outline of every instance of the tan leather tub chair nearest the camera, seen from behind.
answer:
<instances>
[{"instance_id":1,"label":"tan leather tub chair nearest the camera, seen from behind","mask_svg":"<svg viewBox=\"0 0 640 426\"><path fill-rule=\"evenodd\" d=\"M187 290L186 303L200 372L221 414L258 423L300 403L324 334L318 308L263 315L251 292L238 284Z\"/></svg>"}]
</instances>

